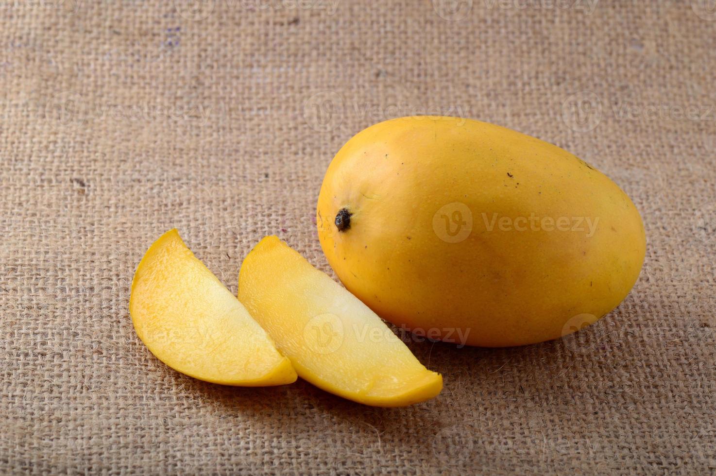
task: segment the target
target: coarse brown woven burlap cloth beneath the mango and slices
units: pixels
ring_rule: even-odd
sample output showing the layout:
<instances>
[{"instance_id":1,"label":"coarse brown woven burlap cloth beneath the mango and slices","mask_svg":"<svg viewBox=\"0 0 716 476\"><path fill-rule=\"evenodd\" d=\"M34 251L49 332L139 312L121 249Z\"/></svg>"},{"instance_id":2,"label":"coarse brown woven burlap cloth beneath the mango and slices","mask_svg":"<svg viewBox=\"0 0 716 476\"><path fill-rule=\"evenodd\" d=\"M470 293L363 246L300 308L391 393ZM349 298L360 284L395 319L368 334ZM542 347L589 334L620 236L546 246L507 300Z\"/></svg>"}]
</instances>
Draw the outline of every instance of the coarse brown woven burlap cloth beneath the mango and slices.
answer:
<instances>
[{"instance_id":1,"label":"coarse brown woven burlap cloth beneath the mango and slices","mask_svg":"<svg viewBox=\"0 0 716 476\"><path fill-rule=\"evenodd\" d=\"M716 11L707 0L0 3L0 473L716 470ZM132 274L177 227L231 291L314 230L339 147L390 117L495 122L591 162L649 241L579 340L410 343L445 389L364 407L221 387L137 339Z\"/></svg>"}]
</instances>

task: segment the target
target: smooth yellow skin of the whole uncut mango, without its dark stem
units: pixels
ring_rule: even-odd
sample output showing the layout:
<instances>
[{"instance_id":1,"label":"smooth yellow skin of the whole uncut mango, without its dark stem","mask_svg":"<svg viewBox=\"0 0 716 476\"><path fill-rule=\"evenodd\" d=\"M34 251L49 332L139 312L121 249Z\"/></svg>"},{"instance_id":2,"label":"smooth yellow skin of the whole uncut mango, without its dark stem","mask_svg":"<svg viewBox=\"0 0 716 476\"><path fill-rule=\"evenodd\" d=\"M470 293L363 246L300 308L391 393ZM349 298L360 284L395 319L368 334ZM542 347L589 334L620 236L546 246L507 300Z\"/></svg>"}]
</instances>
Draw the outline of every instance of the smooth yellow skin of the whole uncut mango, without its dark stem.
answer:
<instances>
[{"instance_id":1,"label":"smooth yellow skin of the whole uncut mango, without its dark stem","mask_svg":"<svg viewBox=\"0 0 716 476\"><path fill-rule=\"evenodd\" d=\"M458 117L402 117L352 137L326 172L316 223L330 265L376 314L471 346L592 324L627 296L646 251L637 208L606 175Z\"/></svg>"}]
</instances>

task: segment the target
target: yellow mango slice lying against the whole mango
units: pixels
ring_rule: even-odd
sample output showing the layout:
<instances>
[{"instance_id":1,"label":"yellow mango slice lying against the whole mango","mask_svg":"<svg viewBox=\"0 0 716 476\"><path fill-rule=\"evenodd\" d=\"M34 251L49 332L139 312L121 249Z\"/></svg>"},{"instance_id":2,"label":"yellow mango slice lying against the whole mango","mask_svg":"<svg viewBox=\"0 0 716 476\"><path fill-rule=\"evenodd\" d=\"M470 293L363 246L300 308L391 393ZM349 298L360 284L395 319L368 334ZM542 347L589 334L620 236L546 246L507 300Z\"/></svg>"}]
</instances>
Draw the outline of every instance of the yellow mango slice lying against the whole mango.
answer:
<instances>
[{"instance_id":1,"label":"yellow mango slice lying against the whole mango","mask_svg":"<svg viewBox=\"0 0 716 476\"><path fill-rule=\"evenodd\" d=\"M238 298L299 376L362 404L400 407L435 397L442 377L355 296L275 236L241 265Z\"/></svg>"}]
</instances>

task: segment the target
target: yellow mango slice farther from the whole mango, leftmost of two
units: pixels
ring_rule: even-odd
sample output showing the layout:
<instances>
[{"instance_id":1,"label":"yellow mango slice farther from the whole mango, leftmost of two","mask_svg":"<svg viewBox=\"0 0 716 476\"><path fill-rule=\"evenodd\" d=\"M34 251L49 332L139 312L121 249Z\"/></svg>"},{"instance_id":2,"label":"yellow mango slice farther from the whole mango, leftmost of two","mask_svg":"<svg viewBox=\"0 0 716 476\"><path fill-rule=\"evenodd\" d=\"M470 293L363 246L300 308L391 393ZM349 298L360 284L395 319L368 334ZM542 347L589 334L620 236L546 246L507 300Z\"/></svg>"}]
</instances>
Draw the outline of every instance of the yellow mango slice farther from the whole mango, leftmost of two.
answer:
<instances>
[{"instance_id":1,"label":"yellow mango slice farther from the whole mango, leftmost of two","mask_svg":"<svg viewBox=\"0 0 716 476\"><path fill-rule=\"evenodd\" d=\"M137 266L130 314L152 354L190 377L246 387L297 379L289 359L177 230L155 241Z\"/></svg>"}]
</instances>

